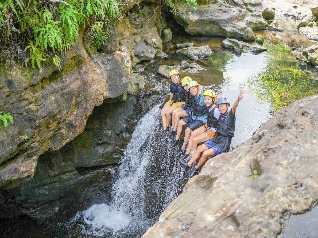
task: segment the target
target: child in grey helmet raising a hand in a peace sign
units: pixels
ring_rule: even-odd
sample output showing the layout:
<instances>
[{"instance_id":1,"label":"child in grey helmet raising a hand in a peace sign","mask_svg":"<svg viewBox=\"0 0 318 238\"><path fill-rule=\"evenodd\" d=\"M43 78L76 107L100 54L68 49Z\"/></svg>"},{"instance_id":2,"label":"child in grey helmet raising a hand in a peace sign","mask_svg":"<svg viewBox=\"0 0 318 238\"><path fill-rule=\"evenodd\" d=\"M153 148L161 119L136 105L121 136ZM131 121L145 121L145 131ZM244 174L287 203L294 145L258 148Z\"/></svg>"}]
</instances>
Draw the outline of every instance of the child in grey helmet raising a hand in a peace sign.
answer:
<instances>
[{"instance_id":1,"label":"child in grey helmet raising a hand in a peace sign","mask_svg":"<svg viewBox=\"0 0 318 238\"><path fill-rule=\"evenodd\" d=\"M230 103L227 98L220 98L218 100L217 106L220 111L220 117L217 123L217 130L214 139L209 139L204 144L200 145L194 152L191 160L186 164L182 164L186 170L190 169L190 166L196 161L200 154L202 156L198 164L192 169L190 177L198 173L198 169L206 162L208 156L215 156L224 152L228 152L230 149L230 143L232 137L234 136L235 129L235 111L239 105L239 101L244 97L245 91L240 90L238 99L233 104L232 108L229 110Z\"/></svg>"}]
</instances>

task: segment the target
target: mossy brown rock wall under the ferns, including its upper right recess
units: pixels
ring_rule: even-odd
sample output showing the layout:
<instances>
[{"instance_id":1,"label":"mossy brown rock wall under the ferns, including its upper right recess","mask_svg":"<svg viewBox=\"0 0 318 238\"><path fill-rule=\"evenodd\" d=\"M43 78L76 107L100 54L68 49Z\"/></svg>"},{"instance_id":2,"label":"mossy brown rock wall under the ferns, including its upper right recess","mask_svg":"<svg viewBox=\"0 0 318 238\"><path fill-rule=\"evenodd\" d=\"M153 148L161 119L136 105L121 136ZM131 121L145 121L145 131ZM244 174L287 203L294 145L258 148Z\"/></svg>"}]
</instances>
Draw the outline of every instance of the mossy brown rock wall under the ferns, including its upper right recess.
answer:
<instances>
[{"instance_id":1,"label":"mossy brown rock wall under the ferns, including its upper right recess","mask_svg":"<svg viewBox=\"0 0 318 238\"><path fill-rule=\"evenodd\" d=\"M112 23L103 49L81 29L61 71L50 65L42 73L21 65L1 66L0 111L11 113L14 124L0 130L0 188L32 179L41 154L82 133L95 106L127 92L132 66L161 51L164 19L148 2L130 5L130 17Z\"/></svg>"}]
</instances>

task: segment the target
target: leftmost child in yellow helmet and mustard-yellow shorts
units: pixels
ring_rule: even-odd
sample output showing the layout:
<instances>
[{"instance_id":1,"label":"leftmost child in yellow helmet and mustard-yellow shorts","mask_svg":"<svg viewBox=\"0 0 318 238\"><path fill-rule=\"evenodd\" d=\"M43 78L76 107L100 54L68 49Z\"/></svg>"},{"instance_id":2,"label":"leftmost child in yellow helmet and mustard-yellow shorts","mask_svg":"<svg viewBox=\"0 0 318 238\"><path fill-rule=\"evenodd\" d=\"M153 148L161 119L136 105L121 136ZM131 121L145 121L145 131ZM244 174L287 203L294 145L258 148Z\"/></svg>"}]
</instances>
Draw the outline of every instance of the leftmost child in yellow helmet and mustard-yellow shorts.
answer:
<instances>
[{"instance_id":1,"label":"leftmost child in yellow helmet and mustard-yellow shorts","mask_svg":"<svg viewBox=\"0 0 318 238\"><path fill-rule=\"evenodd\" d=\"M161 110L161 118L163 123L162 135L168 132L169 125L171 122L172 112L181 107L184 104L186 93L181 85L180 74L177 70L173 69L169 73L171 79L170 84L170 100L164 105Z\"/></svg>"}]
</instances>

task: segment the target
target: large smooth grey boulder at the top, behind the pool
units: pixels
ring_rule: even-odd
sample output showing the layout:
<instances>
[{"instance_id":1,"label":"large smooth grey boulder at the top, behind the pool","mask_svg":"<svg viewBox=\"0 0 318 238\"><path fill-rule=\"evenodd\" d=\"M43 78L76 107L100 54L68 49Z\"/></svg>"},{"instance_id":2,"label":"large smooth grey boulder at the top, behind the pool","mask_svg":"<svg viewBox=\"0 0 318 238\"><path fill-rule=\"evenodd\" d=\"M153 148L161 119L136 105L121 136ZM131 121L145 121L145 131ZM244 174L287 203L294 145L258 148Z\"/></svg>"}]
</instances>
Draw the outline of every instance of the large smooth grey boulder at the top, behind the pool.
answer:
<instances>
[{"instance_id":1,"label":"large smooth grey boulder at the top, behind the pool","mask_svg":"<svg viewBox=\"0 0 318 238\"><path fill-rule=\"evenodd\" d=\"M253 13L247 17L248 11L239 0L231 0L229 5L219 4L218 1L215 4L198 5L197 10L183 2L175 2L174 6L176 14L173 14L173 18L191 35L242 38L248 27L253 30L265 28L265 20L259 17L260 12L258 16Z\"/></svg>"}]
</instances>

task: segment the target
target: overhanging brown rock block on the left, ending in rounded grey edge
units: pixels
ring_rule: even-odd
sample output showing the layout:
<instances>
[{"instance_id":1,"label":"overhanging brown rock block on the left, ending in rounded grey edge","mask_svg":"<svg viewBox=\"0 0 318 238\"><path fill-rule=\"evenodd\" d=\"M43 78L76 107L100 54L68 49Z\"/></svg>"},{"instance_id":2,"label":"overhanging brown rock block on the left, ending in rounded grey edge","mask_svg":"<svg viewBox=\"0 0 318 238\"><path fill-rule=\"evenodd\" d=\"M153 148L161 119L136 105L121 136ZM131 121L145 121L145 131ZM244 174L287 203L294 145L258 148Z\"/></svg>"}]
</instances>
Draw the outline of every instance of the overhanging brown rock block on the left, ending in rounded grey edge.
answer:
<instances>
[{"instance_id":1,"label":"overhanging brown rock block on the left, ending in rounded grey edge","mask_svg":"<svg viewBox=\"0 0 318 238\"><path fill-rule=\"evenodd\" d=\"M10 112L14 122L0 130L1 188L32 179L41 154L62 148L80 134L104 98L127 91L131 61L125 47L106 55L91 52L89 57L80 39L66 54L61 72L17 67L1 74L1 111ZM24 135L30 139L22 141Z\"/></svg>"}]
</instances>

